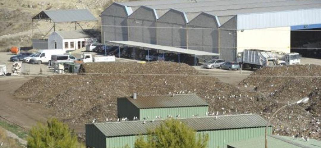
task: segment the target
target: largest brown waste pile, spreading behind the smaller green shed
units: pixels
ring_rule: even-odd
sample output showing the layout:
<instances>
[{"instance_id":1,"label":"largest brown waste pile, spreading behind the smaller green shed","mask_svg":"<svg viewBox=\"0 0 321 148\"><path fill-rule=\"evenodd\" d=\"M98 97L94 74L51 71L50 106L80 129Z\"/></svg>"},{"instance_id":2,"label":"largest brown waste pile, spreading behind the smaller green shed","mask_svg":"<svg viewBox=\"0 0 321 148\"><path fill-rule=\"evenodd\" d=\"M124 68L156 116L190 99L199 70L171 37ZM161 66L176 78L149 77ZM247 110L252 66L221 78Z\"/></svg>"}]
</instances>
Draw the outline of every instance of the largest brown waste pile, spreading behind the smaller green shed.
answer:
<instances>
[{"instance_id":1,"label":"largest brown waste pile, spreading behind the smaller green shed","mask_svg":"<svg viewBox=\"0 0 321 148\"><path fill-rule=\"evenodd\" d=\"M85 66L86 71L94 73L106 71L37 77L23 84L16 91L16 97L54 109L57 117L70 124L91 123L94 118L97 122L104 122L106 118L116 121L117 98L132 96L134 92L138 96L196 93L210 104L211 115L255 113L258 108L263 109L262 102L256 101L256 93L200 75L187 64L91 63ZM122 72L133 75L110 74ZM155 72L169 75L153 75ZM254 108L253 104L261 107Z\"/></svg>"}]
</instances>

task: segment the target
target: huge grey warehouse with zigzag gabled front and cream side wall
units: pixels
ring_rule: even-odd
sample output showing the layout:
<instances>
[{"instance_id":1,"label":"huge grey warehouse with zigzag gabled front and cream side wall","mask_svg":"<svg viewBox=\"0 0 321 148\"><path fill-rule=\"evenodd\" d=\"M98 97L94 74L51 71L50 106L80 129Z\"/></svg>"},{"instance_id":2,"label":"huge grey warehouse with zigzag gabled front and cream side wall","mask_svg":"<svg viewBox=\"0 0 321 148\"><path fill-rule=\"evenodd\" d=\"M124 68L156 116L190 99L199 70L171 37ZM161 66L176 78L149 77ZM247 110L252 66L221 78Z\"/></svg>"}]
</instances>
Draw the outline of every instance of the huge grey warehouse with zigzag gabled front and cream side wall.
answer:
<instances>
[{"instance_id":1,"label":"huge grey warehouse with zigzag gabled front and cream side wall","mask_svg":"<svg viewBox=\"0 0 321 148\"><path fill-rule=\"evenodd\" d=\"M244 49L289 53L314 41L319 0L154 0L113 3L101 13L102 42L137 41L221 54ZM300 31L298 31L300 30ZM298 45L298 42L300 45ZM293 47L296 46L296 47ZM302 49L303 50L303 49ZM300 52L300 50L295 50Z\"/></svg>"}]
</instances>

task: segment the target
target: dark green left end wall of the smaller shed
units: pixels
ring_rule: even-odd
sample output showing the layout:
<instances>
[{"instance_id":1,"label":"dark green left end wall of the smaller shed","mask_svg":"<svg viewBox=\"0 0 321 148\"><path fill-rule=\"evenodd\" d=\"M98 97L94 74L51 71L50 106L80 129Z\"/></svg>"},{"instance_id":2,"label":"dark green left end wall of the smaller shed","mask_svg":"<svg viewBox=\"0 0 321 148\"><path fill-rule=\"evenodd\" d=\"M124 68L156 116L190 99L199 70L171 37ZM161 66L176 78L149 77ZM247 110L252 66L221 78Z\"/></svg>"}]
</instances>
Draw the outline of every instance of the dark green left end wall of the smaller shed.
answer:
<instances>
[{"instance_id":1,"label":"dark green left end wall of the smaller shed","mask_svg":"<svg viewBox=\"0 0 321 148\"><path fill-rule=\"evenodd\" d=\"M118 98L117 114L119 118L127 117L129 120L133 120L134 116L139 118L139 109L128 101L127 98Z\"/></svg>"}]
</instances>

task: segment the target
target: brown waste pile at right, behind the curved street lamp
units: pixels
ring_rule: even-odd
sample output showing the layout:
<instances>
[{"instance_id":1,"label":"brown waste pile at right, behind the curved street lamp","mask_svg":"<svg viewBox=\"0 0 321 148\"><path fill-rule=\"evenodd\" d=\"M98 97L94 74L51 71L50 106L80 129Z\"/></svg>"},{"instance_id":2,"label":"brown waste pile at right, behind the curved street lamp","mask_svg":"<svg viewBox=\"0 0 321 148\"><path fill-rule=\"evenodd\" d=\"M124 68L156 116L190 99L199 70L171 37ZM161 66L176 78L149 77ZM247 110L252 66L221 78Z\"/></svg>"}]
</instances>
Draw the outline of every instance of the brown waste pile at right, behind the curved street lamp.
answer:
<instances>
[{"instance_id":1,"label":"brown waste pile at right, behind the curved street lamp","mask_svg":"<svg viewBox=\"0 0 321 148\"><path fill-rule=\"evenodd\" d=\"M265 76L265 77L263 77ZM278 77L281 76L281 77ZM321 66L290 65L267 67L257 70L239 85L261 93L273 101L265 107L262 115L266 119L279 107L303 97L308 104L292 105L280 111L272 120L275 134L286 136L308 136L321 139Z\"/></svg>"}]
</instances>

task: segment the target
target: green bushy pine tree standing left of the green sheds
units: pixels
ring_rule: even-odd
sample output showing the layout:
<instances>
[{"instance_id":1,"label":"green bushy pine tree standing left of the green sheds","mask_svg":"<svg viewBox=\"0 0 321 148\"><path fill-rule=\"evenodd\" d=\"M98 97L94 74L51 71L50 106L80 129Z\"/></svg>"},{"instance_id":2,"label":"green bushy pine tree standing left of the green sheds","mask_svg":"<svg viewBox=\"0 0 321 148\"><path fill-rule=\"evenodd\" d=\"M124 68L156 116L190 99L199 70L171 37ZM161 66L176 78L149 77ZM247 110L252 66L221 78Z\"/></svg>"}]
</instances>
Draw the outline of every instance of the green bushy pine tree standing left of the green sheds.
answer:
<instances>
[{"instance_id":1,"label":"green bushy pine tree standing left of the green sheds","mask_svg":"<svg viewBox=\"0 0 321 148\"><path fill-rule=\"evenodd\" d=\"M49 119L47 126L40 123L32 127L27 138L29 148L77 148L77 136L67 124Z\"/></svg>"}]
</instances>

